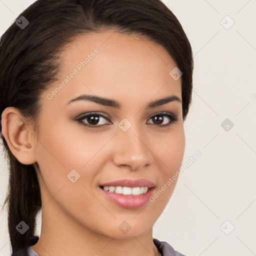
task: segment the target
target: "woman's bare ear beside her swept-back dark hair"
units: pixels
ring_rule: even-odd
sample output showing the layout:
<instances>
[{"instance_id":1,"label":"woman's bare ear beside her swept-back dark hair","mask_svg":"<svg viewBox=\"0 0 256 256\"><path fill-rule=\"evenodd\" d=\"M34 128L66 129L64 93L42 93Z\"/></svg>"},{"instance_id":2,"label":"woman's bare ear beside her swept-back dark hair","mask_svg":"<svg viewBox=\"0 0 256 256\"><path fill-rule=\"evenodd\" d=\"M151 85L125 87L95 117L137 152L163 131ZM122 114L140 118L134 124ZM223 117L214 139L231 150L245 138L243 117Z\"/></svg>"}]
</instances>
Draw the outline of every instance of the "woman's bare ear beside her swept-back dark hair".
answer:
<instances>
[{"instance_id":1,"label":"woman's bare ear beside her swept-back dark hair","mask_svg":"<svg viewBox=\"0 0 256 256\"><path fill-rule=\"evenodd\" d=\"M13 106L6 107L2 112L1 126L2 135L17 160L23 164L36 162L33 130L21 112Z\"/></svg>"}]
</instances>

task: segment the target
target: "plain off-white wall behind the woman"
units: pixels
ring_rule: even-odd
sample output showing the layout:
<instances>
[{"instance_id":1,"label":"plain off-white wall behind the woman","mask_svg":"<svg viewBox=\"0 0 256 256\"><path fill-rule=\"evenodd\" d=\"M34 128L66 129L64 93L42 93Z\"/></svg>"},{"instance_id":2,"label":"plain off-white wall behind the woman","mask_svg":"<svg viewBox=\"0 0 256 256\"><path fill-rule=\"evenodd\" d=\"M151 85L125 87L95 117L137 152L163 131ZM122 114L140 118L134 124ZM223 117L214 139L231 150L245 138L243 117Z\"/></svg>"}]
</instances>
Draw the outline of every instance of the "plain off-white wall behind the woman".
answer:
<instances>
[{"instance_id":1,"label":"plain off-white wall behind the woman","mask_svg":"<svg viewBox=\"0 0 256 256\"><path fill-rule=\"evenodd\" d=\"M0 34L32 2L0 0ZM184 168L154 225L153 237L185 255L255 255L256 1L163 2L180 21L194 54L183 163L190 163L197 150L201 156ZM234 24L226 29L231 19ZM2 206L8 181L2 150L0 175ZM39 235L40 218L37 224ZM226 234L231 225L234 229ZM5 210L0 214L0 230L0 255L9 255Z\"/></svg>"}]
</instances>

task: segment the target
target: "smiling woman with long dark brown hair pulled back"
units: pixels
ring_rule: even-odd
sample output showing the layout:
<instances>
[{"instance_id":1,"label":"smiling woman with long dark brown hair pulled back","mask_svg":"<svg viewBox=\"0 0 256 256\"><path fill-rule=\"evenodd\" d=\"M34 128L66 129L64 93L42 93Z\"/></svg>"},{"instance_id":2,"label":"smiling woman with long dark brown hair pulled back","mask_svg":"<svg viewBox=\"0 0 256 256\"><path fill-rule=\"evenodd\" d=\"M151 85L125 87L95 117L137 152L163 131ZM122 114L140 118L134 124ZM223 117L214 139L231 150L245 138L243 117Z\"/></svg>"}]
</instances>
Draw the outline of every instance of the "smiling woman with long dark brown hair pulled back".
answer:
<instances>
[{"instance_id":1,"label":"smiling woman with long dark brown hair pulled back","mask_svg":"<svg viewBox=\"0 0 256 256\"><path fill-rule=\"evenodd\" d=\"M0 65L12 255L183 255L152 237L191 100L175 15L160 0L38 0L1 37Z\"/></svg>"}]
</instances>

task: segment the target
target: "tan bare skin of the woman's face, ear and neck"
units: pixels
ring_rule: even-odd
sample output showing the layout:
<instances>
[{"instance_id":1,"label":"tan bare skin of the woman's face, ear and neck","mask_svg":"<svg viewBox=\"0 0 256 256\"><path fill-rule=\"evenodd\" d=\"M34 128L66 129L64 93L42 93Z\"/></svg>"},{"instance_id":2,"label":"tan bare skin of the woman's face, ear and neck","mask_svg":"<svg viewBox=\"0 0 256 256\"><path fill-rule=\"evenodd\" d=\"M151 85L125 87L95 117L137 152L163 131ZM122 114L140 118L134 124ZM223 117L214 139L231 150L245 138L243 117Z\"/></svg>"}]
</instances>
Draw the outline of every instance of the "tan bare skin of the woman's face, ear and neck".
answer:
<instances>
[{"instance_id":1,"label":"tan bare skin of the woman's face, ear and neck","mask_svg":"<svg viewBox=\"0 0 256 256\"><path fill-rule=\"evenodd\" d=\"M47 94L95 48L99 50L95 57L48 99ZM18 109L8 107L2 113L3 135L12 153L20 162L34 164L40 184L41 233L31 248L40 256L160 255L152 226L177 180L154 202L136 209L113 204L98 184L146 178L157 191L181 165L185 148L181 102L145 109L149 101L168 95L181 99L181 78L169 75L176 64L161 45L112 30L80 35L61 57L59 81L41 95L37 137ZM80 94L114 99L121 108L85 100L67 104ZM110 122L100 117L102 126L93 129L73 120L92 111ZM178 120L161 127L151 118L161 111L175 114ZM123 118L131 123L125 132L117 125ZM88 118L83 121L88 124ZM169 121L164 117L162 123ZM17 123L23 129L17 129ZM80 174L74 183L67 178L72 169ZM125 234L118 228L122 221L131 227Z\"/></svg>"}]
</instances>

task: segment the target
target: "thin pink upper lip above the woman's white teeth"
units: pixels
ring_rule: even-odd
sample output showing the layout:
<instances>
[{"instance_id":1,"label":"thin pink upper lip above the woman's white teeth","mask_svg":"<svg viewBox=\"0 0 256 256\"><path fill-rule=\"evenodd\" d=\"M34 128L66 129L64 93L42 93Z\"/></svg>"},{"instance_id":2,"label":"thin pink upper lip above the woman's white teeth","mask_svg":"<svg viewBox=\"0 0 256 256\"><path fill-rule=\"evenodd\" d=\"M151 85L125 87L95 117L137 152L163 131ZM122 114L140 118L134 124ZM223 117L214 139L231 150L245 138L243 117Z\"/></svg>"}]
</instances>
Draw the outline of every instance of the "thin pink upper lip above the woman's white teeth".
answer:
<instances>
[{"instance_id":1,"label":"thin pink upper lip above the woman's white teeth","mask_svg":"<svg viewBox=\"0 0 256 256\"><path fill-rule=\"evenodd\" d=\"M138 186L147 186L153 187L154 183L148 179L118 179L110 181L107 183L99 184L100 186L127 186L127 187L138 187Z\"/></svg>"}]
</instances>

